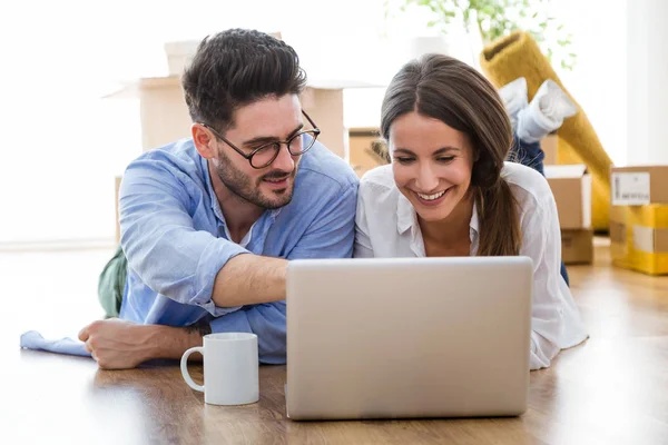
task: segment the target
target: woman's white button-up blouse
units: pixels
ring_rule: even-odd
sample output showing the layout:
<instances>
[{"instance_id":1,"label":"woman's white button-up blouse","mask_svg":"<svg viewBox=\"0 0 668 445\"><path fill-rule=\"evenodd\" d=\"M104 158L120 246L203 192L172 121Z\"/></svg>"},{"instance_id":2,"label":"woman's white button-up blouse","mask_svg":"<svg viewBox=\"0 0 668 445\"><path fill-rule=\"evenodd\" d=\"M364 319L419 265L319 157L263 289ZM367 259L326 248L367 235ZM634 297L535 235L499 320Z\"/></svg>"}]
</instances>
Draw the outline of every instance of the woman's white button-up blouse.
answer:
<instances>
[{"instance_id":1,"label":"woman's white button-up blouse","mask_svg":"<svg viewBox=\"0 0 668 445\"><path fill-rule=\"evenodd\" d=\"M533 260L531 314L531 369L550 366L563 348L588 335L563 277L561 233L554 197L536 170L505 162L502 174L519 202L521 256ZM470 222L471 256L478 251L478 212ZM424 257L424 243L415 209L394 184L392 166L367 171L360 181L355 257Z\"/></svg>"}]
</instances>

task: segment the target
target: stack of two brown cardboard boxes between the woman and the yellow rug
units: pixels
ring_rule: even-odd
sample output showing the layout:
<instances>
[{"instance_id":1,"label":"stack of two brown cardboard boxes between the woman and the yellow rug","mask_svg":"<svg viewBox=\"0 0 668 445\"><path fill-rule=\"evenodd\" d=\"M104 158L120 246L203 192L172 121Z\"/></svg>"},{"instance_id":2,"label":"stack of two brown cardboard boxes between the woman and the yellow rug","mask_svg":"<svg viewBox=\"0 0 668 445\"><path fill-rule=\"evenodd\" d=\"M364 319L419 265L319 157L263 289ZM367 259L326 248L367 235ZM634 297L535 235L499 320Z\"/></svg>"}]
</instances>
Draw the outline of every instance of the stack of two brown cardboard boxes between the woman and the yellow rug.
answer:
<instances>
[{"instance_id":1,"label":"stack of two brown cardboard boxes between the woman and the yellow rug","mask_svg":"<svg viewBox=\"0 0 668 445\"><path fill-rule=\"evenodd\" d=\"M587 166L546 165L544 171L559 212L561 259L569 265L591 264L591 175L587 171Z\"/></svg>"}]
</instances>

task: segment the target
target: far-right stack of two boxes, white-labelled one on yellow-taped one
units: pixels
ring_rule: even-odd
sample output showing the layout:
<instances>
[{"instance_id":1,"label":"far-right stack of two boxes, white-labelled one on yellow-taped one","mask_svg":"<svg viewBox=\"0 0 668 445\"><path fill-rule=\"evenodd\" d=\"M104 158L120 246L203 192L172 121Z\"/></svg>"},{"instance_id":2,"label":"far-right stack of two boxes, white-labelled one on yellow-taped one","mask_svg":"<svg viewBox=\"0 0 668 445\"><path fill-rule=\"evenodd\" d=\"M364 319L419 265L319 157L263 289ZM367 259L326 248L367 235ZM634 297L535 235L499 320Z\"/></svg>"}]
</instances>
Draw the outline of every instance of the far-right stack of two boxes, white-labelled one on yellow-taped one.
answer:
<instances>
[{"instance_id":1,"label":"far-right stack of two boxes, white-labelled one on yellow-taped one","mask_svg":"<svg viewBox=\"0 0 668 445\"><path fill-rule=\"evenodd\" d=\"M668 274L668 166L612 167L612 264Z\"/></svg>"}]
</instances>

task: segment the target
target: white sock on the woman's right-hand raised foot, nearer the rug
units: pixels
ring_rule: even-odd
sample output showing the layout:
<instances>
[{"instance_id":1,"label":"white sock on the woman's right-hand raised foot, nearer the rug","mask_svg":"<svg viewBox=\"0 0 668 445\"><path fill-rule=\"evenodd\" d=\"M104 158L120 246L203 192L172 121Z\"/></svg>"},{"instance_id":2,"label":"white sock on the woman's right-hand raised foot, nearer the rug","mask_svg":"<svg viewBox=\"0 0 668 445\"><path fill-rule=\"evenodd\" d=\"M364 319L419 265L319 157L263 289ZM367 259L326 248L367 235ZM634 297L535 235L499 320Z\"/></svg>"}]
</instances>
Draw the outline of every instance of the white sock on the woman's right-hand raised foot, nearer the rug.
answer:
<instances>
[{"instance_id":1,"label":"white sock on the woman's right-hand raised foot, nearer the rug","mask_svg":"<svg viewBox=\"0 0 668 445\"><path fill-rule=\"evenodd\" d=\"M546 80L528 107L518 113L518 137L525 142L538 142L578 112L572 100L553 80Z\"/></svg>"}]
</instances>

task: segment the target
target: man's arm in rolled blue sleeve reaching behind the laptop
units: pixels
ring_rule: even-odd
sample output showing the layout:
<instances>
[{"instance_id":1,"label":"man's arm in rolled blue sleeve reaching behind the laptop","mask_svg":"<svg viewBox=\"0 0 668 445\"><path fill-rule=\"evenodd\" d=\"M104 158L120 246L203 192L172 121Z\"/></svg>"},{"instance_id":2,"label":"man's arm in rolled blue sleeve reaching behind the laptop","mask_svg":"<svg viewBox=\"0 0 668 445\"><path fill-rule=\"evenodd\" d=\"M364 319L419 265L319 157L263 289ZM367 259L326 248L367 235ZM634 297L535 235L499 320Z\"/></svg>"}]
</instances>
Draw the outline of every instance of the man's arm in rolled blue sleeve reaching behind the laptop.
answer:
<instances>
[{"instance_id":1,"label":"man's arm in rolled blue sleeve reaching behind the laptop","mask_svg":"<svg viewBox=\"0 0 668 445\"><path fill-rule=\"evenodd\" d=\"M285 298L286 261L250 254L197 230L190 197L177 171L155 159L130 165L120 188L121 245L148 287L214 317L240 306ZM245 255L242 255L245 254Z\"/></svg>"}]
</instances>

